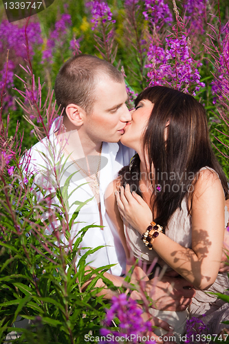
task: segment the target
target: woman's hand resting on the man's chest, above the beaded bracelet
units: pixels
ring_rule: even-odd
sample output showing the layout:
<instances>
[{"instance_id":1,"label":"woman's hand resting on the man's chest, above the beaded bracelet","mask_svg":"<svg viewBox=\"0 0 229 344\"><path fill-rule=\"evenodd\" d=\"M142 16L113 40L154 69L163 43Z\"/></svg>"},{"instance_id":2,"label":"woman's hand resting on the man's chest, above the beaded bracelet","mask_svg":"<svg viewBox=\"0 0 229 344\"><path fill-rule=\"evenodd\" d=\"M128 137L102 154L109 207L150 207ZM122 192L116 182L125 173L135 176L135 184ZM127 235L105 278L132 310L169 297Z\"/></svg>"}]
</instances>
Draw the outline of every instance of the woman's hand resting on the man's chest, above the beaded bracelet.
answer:
<instances>
[{"instance_id":1,"label":"woman's hand resting on the man's chest, above the beaded bracelet","mask_svg":"<svg viewBox=\"0 0 229 344\"><path fill-rule=\"evenodd\" d=\"M142 197L135 192L131 193L127 184L125 189L121 186L120 193L116 193L116 201L123 219L140 234L144 233L153 221L153 215L151 208L142 200Z\"/></svg>"}]
</instances>

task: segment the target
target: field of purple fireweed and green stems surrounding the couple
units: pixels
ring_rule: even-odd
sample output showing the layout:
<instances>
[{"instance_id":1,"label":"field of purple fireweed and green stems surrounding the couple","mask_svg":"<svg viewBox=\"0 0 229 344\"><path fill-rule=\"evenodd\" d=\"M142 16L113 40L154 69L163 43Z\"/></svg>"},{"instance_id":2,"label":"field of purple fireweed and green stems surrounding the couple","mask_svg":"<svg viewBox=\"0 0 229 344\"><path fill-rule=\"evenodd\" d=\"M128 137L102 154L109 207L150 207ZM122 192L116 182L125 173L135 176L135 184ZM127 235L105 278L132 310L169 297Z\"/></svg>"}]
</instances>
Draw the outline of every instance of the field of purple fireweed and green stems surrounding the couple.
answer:
<instances>
[{"instance_id":1,"label":"field of purple fireweed and green stems surrounding the couple","mask_svg":"<svg viewBox=\"0 0 229 344\"><path fill-rule=\"evenodd\" d=\"M85 274L90 250L76 269L80 241L91 224L74 245L71 240L63 245L60 228L69 239L77 214L65 216L67 200L58 173L60 206L54 208L48 187L34 189L29 161L23 158L25 150L49 135L60 115L53 92L56 74L74 54L92 54L122 71L130 109L136 94L149 85L192 94L206 108L212 145L229 178L229 3L55 0L43 12L12 23L1 4L0 17L0 343L14 330L19 335L10 343L81 344L89 333L100 336L101 327L101 333L111 333L106 321L114 319L119 325L116 310L104 320L109 305L95 297L94 285L102 278L117 288L103 277L109 267ZM84 204L78 201L80 211ZM45 221L43 213L49 214ZM54 235L45 234L56 219L61 226L54 228ZM83 284L95 273L83 292ZM123 296L117 300L113 304L124 300L123 309L129 302ZM146 332L130 304L136 326ZM30 320L29 330L15 330L17 316ZM125 330L133 333L129 327Z\"/></svg>"}]
</instances>

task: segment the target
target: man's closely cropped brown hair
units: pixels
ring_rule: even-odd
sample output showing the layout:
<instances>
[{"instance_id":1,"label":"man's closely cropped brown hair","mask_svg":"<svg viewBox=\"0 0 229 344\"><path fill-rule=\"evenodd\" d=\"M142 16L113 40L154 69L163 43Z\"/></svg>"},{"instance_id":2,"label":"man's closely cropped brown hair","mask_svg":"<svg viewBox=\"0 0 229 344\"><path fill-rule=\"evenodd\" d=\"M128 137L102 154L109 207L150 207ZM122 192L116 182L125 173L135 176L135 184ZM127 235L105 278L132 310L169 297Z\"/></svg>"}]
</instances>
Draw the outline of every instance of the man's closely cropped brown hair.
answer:
<instances>
[{"instance_id":1,"label":"man's closely cropped brown hair","mask_svg":"<svg viewBox=\"0 0 229 344\"><path fill-rule=\"evenodd\" d=\"M56 103L63 115L69 104L82 107L89 114L96 100L95 89L102 77L108 76L116 83L123 83L122 73L96 56L80 54L69 58L56 76Z\"/></svg>"}]
</instances>

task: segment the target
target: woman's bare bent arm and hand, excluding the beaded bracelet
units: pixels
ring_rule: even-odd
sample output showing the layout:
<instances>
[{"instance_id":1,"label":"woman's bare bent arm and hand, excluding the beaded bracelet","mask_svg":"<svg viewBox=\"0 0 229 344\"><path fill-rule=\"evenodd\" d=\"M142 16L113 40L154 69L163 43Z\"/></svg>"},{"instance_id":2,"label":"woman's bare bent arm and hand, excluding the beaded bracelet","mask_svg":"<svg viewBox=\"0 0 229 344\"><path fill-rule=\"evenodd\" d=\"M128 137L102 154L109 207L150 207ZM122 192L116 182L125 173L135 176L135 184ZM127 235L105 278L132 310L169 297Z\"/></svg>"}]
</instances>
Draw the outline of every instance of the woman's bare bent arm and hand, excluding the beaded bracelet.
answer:
<instances>
[{"instance_id":1,"label":"woman's bare bent arm and hand, excluding the beaded bracelet","mask_svg":"<svg viewBox=\"0 0 229 344\"><path fill-rule=\"evenodd\" d=\"M152 219L148 205L128 187L117 194L121 215L144 233ZM153 242L153 249L162 259L193 283L196 288L207 289L219 272L224 233L224 194L216 173L201 171L195 184L192 205L192 248L185 248L160 233ZM175 228L173 228L175 230ZM172 228L171 228L172 230Z\"/></svg>"}]
</instances>

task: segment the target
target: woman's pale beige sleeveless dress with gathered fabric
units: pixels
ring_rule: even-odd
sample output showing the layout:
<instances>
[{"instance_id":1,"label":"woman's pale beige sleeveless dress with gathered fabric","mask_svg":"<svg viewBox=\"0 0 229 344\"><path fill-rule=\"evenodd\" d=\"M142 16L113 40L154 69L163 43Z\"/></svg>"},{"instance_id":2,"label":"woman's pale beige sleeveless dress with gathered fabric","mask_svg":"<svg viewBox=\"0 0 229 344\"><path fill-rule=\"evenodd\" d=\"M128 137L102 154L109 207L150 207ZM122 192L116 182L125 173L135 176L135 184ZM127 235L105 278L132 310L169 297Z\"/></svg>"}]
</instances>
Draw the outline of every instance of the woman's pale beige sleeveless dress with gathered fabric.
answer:
<instances>
[{"instance_id":1,"label":"woman's pale beige sleeveless dress with gathered fabric","mask_svg":"<svg viewBox=\"0 0 229 344\"><path fill-rule=\"evenodd\" d=\"M225 207L226 224L228 222L228 218L228 209ZM153 259L157 257L157 263L160 264L161 267L164 266L164 261L157 255L157 253L144 246L138 230L135 230L130 225L125 225L124 234L126 236L130 252L133 252L135 258L140 258L142 261L146 262L146 264L151 264ZM187 202L185 199L182 201L181 208L178 208L172 215L168 222L168 228L165 230L165 234L181 246L187 248L192 247L192 222L190 215L188 215ZM218 334L224 327L229 326L221 323L221 321L229 320L229 303L225 303L224 301L217 299L217 296L208 294L208 292L221 292L229 295L229 292L226 291L228 288L229 283L227 273L219 273L215 283L210 286L207 292L197 290L196 296L193 298L193 303L188 308L188 312L152 310L152 314L164 321L167 321L170 325L175 327L177 343L179 343L180 336L185 332L186 319L192 316L200 317L201 321L207 324L207 333ZM161 334L161 332L158 333L158 335Z\"/></svg>"}]
</instances>

